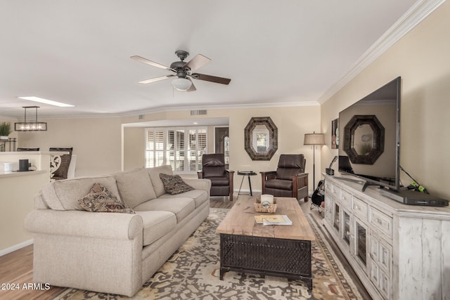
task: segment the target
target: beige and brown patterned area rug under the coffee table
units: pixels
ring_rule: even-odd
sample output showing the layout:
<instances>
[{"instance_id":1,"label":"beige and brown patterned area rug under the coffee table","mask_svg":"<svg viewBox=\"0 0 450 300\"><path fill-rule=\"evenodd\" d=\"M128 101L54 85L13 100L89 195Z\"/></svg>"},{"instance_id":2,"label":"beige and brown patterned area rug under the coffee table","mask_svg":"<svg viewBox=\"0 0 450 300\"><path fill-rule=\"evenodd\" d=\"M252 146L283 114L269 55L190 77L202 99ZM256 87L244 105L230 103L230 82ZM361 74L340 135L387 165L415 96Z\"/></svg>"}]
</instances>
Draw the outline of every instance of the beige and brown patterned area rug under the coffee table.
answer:
<instances>
[{"instance_id":1,"label":"beige and brown patterned area rug under the coffee table","mask_svg":"<svg viewBox=\"0 0 450 300\"><path fill-rule=\"evenodd\" d=\"M210 216L133 298L67 289L55 299L362 299L323 237L306 214L316 241L311 243L313 291L301 280L225 273L219 280L219 235L215 230L229 209L210 209Z\"/></svg>"}]
</instances>

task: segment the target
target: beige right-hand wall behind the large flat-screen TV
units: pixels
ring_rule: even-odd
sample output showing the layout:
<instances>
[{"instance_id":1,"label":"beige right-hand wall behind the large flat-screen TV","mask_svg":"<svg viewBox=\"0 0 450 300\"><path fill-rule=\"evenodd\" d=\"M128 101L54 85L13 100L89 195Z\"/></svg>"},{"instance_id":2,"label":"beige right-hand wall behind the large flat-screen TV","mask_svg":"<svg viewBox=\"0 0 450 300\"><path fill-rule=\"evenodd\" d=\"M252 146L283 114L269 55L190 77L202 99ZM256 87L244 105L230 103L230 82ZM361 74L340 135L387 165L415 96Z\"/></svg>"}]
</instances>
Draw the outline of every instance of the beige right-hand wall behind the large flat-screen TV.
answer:
<instances>
[{"instance_id":1,"label":"beige right-hand wall behind the large flat-screen TV","mask_svg":"<svg viewBox=\"0 0 450 300\"><path fill-rule=\"evenodd\" d=\"M321 129L327 142L322 148L323 166L338 155L338 150L330 148L330 126L339 111L401 76L400 164L430 193L450 200L449 28L450 2L446 1L321 105ZM404 185L411 183L404 173L401 180Z\"/></svg>"}]
</instances>

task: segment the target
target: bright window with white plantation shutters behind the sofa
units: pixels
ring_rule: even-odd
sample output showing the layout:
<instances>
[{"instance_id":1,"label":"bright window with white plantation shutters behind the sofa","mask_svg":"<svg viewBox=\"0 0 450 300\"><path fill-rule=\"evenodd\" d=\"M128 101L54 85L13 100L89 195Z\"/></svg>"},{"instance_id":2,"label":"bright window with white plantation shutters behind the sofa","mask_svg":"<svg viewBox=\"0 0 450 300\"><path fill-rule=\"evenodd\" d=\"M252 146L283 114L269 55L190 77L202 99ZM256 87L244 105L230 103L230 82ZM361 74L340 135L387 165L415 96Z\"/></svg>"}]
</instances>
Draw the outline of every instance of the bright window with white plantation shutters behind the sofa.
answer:
<instances>
[{"instance_id":1,"label":"bright window with white plantation shutters behind the sofa","mask_svg":"<svg viewBox=\"0 0 450 300\"><path fill-rule=\"evenodd\" d=\"M194 173L206 152L206 127L146 129L146 167L169 164L176 173Z\"/></svg>"}]
</instances>

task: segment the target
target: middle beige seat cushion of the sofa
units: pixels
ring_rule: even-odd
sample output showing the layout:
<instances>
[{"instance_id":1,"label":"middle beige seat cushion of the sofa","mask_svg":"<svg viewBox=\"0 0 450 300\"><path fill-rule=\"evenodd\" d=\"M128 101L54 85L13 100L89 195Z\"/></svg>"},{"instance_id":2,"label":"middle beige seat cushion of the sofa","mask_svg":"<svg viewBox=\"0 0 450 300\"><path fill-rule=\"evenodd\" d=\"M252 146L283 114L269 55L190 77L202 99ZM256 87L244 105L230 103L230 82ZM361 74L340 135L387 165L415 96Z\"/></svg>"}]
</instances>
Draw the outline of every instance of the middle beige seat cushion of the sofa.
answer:
<instances>
[{"instance_id":1,"label":"middle beige seat cushion of the sofa","mask_svg":"<svg viewBox=\"0 0 450 300\"><path fill-rule=\"evenodd\" d=\"M134 207L136 213L138 211L170 211L175 214L177 223L191 214L194 209L194 200L186 197L156 198Z\"/></svg>"}]
</instances>

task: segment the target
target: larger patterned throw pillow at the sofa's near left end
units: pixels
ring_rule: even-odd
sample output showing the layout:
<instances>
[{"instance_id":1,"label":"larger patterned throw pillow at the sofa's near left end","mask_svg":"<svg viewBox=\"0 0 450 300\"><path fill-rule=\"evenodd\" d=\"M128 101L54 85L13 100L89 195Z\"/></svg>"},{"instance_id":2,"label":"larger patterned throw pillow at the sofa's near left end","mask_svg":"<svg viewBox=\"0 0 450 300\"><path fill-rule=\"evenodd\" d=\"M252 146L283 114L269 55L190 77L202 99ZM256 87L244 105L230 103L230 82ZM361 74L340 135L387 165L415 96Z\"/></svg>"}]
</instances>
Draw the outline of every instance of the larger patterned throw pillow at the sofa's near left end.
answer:
<instances>
[{"instance_id":1,"label":"larger patterned throw pillow at the sofa's near left end","mask_svg":"<svg viewBox=\"0 0 450 300\"><path fill-rule=\"evenodd\" d=\"M79 205L91 212L119 212L124 214L136 214L133 209L125 205L113 196L108 188L100 183L94 183L91 192L78 200Z\"/></svg>"}]
</instances>

